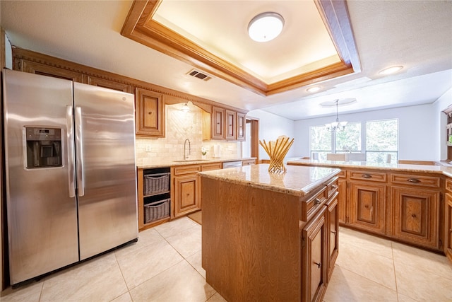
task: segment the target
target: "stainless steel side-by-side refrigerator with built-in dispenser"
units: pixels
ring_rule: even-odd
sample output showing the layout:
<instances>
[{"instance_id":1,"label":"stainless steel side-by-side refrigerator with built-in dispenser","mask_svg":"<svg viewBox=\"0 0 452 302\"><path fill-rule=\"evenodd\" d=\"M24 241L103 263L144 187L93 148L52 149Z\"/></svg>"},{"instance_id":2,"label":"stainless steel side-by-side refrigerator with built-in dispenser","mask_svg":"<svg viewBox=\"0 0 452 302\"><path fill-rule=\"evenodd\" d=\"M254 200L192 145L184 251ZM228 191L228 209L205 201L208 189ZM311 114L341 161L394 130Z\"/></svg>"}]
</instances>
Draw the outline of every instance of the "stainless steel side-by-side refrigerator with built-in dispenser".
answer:
<instances>
[{"instance_id":1,"label":"stainless steel side-by-side refrigerator with built-in dispenser","mask_svg":"<svg viewBox=\"0 0 452 302\"><path fill-rule=\"evenodd\" d=\"M11 284L138 238L133 95L4 69Z\"/></svg>"}]
</instances>

